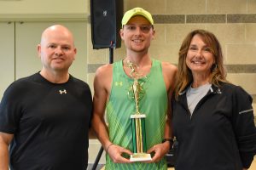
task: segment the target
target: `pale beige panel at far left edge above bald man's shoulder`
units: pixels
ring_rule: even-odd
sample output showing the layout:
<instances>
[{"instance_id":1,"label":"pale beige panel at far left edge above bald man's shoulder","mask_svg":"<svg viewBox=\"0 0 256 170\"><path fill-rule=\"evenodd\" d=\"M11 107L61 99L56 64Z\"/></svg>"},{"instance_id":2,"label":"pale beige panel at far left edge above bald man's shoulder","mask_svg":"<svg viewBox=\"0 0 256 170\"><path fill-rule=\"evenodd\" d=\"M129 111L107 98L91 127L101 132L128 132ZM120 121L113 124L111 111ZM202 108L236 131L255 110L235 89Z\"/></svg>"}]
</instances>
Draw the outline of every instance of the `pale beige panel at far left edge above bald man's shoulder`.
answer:
<instances>
[{"instance_id":1,"label":"pale beige panel at far left edge above bald man's shoulder","mask_svg":"<svg viewBox=\"0 0 256 170\"><path fill-rule=\"evenodd\" d=\"M0 101L11 82L15 81L15 23L0 22Z\"/></svg>"}]
</instances>

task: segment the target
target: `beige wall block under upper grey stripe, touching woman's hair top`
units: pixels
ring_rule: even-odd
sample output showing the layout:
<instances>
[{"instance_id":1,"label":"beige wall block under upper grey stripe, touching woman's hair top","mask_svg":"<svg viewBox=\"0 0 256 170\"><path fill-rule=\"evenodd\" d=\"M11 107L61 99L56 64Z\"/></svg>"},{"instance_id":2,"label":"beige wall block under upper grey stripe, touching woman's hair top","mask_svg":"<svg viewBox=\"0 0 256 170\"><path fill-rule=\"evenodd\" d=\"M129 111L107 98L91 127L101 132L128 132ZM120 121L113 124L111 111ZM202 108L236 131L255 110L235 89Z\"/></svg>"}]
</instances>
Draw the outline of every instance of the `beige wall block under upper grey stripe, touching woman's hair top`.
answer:
<instances>
[{"instance_id":1,"label":"beige wall block under upper grey stripe, touching woman's hair top","mask_svg":"<svg viewBox=\"0 0 256 170\"><path fill-rule=\"evenodd\" d=\"M205 29L202 24L172 24L166 26L166 42L181 44L190 31Z\"/></svg>"}]
</instances>

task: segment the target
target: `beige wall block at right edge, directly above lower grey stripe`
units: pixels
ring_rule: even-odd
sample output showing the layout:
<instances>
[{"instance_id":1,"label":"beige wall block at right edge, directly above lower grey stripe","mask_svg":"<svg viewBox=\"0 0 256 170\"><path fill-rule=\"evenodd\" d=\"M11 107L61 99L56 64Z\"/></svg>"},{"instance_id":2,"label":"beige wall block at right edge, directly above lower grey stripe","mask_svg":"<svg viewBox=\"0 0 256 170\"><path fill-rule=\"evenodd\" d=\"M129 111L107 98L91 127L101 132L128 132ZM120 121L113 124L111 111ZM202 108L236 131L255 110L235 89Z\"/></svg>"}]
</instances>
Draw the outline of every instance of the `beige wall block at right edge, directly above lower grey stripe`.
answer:
<instances>
[{"instance_id":1,"label":"beige wall block at right edge, directly above lower grey stripe","mask_svg":"<svg viewBox=\"0 0 256 170\"><path fill-rule=\"evenodd\" d=\"M226 45L227 63L230 65L256 64L256 44Z\"/></svg>"}]
</instances>

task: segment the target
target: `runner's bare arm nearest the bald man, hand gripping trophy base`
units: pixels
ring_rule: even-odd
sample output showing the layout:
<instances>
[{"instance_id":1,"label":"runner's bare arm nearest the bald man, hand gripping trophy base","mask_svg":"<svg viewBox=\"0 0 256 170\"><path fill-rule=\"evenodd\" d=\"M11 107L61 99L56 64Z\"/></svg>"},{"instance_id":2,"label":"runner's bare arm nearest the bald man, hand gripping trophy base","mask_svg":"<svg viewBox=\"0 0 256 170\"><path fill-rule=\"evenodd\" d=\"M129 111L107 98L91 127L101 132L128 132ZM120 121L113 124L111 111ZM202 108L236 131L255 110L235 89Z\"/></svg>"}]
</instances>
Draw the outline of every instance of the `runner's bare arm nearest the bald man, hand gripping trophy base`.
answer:
<instances>
[{"instance_id":1,"label":"runner's bare arm nearest the bald man, hand gripping trophy base","mask_svg":"<svg viewBox=\"0 0 256 170\"><path fill-rule=\"evenodd\" d=\"M92 117L92 127L96 133L96 137L102 143L102 147L107 151L113 162L130 163L122 154L132 154L130 150L112 144L108 136L108 127L105 122L105 108L109 98L112 84L112 65L103 65L96 71L94 79L94 112Z\"/></svg>"}]
</instances>

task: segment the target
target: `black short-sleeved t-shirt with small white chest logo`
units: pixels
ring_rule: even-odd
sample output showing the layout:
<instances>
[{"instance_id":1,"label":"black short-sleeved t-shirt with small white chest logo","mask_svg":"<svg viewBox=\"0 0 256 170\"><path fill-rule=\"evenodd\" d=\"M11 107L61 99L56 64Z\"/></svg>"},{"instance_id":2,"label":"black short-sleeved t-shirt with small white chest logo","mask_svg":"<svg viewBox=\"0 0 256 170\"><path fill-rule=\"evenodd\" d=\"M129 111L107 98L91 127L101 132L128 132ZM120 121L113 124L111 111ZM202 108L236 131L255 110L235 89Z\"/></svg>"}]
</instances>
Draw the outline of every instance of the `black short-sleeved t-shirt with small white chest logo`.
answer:
<instances>
[{"instance_id":1,"label":"black short-sleeved t-shirt with small white chest logo","mask_svg":"<svg viewBox=\"0 0 256 170\"><path fill-rule=\"evenodd\" d=\"M12 83L0 104L0 131L13 133L10 168L83 169L92 98L87 83L48 82L39 73Z\"/></svg>"}]
</instances>

